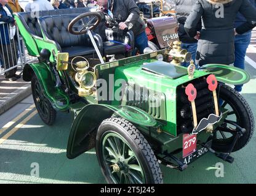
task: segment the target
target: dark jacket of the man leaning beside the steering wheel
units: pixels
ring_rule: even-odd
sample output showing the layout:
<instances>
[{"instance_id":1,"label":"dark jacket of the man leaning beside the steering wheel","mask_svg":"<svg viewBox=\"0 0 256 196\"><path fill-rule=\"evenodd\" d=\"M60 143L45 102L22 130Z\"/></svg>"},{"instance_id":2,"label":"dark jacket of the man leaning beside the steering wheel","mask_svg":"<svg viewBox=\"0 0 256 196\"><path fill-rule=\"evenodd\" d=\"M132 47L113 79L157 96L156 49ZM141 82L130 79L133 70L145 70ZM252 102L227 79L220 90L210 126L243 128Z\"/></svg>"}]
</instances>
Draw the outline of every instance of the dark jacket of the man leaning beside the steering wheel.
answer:
<instances>
[{"instance_id":1,"label":"dark jacket of the man leaning beside the steering wheel","mask_svg":"<svg viewBox=\"0 0 256 196\"><path fill-rule=\"evenodd\" d=\"M112 1L113 4L112 4ZM124 22L128 29L132 29L134 36L145 31L145 23L140 18L140 10L134 0L112 0L109 9L118 23Z\"/></svg>"}]
</instances>

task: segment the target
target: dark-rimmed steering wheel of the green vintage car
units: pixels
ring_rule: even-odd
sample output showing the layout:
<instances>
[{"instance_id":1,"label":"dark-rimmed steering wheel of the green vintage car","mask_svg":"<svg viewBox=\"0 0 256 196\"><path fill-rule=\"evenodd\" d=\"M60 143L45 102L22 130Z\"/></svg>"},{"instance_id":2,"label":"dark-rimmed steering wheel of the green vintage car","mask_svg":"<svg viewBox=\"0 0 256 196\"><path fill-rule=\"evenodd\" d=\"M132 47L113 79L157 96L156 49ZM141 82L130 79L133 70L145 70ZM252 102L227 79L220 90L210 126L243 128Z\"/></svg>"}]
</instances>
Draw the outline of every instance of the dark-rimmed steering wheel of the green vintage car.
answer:
<instances>
[{"instance_id":1,"label":"dark-rimmed steering wheel of the green vintage car","mask_svg":"<svg viewBox=\"0 0 256 196\"><path fill-rule=\"evenodd\" d=\"M74 35L85 34L88 29L94 30L102 21L102 15L99 12L82 13L74 18L68 25L68 32Z\"/></svg>"}]
</instances>

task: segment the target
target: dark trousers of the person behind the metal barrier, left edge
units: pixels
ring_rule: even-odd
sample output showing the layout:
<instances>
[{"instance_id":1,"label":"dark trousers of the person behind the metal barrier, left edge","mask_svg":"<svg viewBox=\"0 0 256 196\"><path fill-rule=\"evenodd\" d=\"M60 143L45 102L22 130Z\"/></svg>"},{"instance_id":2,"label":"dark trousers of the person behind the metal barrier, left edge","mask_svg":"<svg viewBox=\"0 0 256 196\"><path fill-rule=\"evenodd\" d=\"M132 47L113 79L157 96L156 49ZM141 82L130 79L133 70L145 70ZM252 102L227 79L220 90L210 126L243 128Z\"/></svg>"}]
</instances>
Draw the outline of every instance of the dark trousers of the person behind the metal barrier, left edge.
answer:
<instances>
[{"instance_id":1,"label":"dark trousers of the person behind the metal barrier, left edge","mask_svg":"<svg viewBox=\"0 0 256 196\"><path fill-rule=\"evenodd\" d=\"M4 69L9 69L17 65L17 54L15 54L14 44L7 44L0 46L0 58L1 62L4 64ZM17 67L7 71L4 75L6 78L11 78L15 76Z\"/></svg>"}]
</instances>

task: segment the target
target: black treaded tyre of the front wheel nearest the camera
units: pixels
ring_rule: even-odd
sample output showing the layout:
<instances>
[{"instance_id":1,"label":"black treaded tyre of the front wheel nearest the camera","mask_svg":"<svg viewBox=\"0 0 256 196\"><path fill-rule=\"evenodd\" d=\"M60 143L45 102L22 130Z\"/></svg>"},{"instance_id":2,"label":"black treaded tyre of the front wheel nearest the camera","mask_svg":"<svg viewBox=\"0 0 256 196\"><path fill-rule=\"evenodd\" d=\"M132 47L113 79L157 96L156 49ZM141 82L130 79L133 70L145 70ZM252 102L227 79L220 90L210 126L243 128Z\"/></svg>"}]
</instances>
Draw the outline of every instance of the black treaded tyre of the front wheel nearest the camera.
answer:
<instances>
[{"instance_id":1,"label":"black treaded tyre of the front wheel nearest the camera","mask_svg":"<svg viewBox=\"0 0 256 196\"><path fill-rule=\"evenodd\" d=\"M110 184L114 183L113 179L111 179L108 174L102 155L102 141L104 134L106 135L110 130L121 135L132 147L132 151L134 151L135 155L138 157L144 171L143 173L145 173L145 183L162 184L161 169L148 141L146 141L145 137L132 123L122 118L105 119L102 124L100 124L100 127L98 127L96 154L106 181Z\"/></svg>"}]
</instances>

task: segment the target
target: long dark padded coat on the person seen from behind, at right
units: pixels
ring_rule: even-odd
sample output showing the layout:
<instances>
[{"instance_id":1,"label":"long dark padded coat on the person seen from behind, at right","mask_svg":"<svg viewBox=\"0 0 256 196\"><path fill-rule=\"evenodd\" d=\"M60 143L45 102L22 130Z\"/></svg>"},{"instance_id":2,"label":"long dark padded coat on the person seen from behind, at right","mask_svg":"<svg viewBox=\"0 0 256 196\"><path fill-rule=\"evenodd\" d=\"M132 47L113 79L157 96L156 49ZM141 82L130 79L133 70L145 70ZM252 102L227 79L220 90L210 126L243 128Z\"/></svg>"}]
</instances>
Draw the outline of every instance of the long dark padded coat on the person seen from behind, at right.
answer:
<instances>
[{"instance_id":1,"label":"long dark padded coat on the person seen from behind, at right","mask_svg":"<svg viewBox=\"0 0 256 196\"><path fill-rule=\"evenodd\" d=\"M220 10L217 3L223 5L223 15L216 12ZM248 0L196 1L186 20L185 31L190 37L194 37L196 25L202 18L202 31L196 52L196 63L199 66L234 62L234 20L238 12L247 20L236 28L238 34L243 34L256 26L256 9Z\"/></svg>"}]
</instances>

